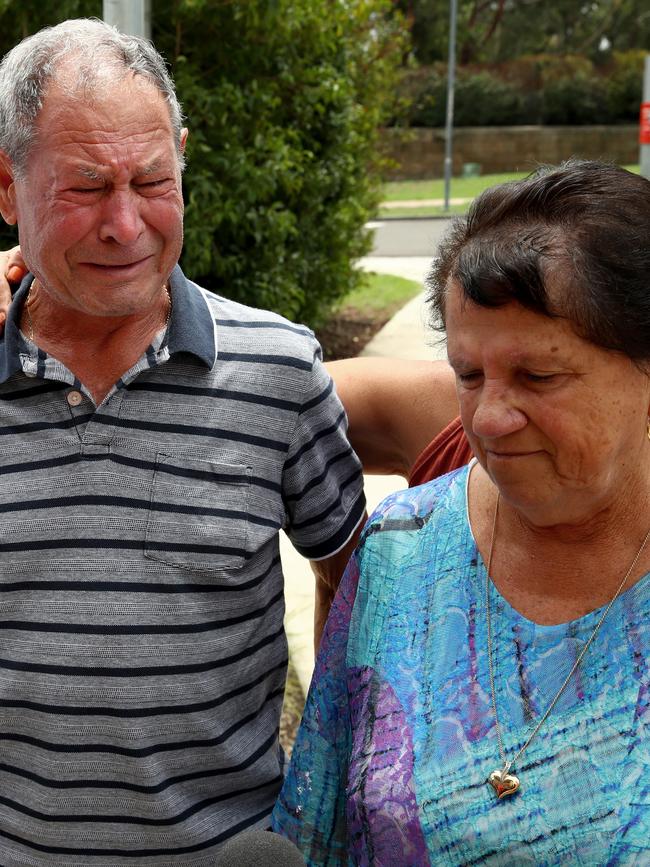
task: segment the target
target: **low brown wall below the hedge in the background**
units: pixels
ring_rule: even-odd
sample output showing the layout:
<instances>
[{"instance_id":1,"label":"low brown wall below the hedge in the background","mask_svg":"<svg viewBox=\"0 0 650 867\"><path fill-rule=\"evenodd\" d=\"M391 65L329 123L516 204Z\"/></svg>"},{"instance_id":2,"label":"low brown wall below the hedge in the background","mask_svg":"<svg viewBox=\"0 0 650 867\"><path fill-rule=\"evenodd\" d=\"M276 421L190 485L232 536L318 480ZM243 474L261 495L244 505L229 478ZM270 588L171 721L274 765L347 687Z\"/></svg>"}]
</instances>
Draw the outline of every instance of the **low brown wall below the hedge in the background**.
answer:
<instances>
[{"instance_id":1,"label":"low brown wall below the hedge in the background","mask_svg":"<svg viewBox=\"0 0 650 867\"><path fill-rule=\"evenodd\" d=\"M397 166L389 180L442 177L443 129L385 129L384 148ZM572 156L627 164L639 160L639 128L620 126L459 127L453 137L453 174L478 163L481 174L530 171Z\"/></svg>"}]
</instances>

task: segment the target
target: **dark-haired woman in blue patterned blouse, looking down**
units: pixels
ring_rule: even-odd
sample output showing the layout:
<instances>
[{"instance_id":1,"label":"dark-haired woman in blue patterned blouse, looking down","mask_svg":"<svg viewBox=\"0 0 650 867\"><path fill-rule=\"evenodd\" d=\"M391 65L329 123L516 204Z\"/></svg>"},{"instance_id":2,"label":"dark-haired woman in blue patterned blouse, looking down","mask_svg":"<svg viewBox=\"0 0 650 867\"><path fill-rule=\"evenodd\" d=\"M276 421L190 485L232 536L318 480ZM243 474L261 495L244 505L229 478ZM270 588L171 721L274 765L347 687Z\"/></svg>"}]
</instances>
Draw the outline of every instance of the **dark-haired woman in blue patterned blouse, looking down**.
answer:
<instances>
[{"instance_id":1,"label":"dark-haired woman in blue patterned blouse, looking down","mask_svg":"<svg viewBox=\"0 0 650 867\"><path fill-rule=\"evenodd\" d=\"M313 865L650 863L650 182L493 188L430 277L476 455L371 517L274 827Z\"/></svg>"}]
</instances>

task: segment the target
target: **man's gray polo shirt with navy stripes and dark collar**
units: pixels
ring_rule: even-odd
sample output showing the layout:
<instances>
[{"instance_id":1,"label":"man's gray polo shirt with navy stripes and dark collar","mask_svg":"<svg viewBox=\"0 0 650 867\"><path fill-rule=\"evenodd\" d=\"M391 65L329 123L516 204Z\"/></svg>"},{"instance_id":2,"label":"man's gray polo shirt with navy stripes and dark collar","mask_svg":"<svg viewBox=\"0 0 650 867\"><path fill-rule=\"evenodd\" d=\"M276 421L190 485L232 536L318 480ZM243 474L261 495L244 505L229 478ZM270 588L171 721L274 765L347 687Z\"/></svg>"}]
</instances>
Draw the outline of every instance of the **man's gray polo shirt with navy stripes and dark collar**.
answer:
<instances>
[{"instance_id":1,"label":"man's gray polo shirt with navy stripes and dark collar","mask_svg":"<svg viewBox=\"0 0 650 867\"><path fill-rule=\"evenodd\" d=\"M0 340L0 864L208 867L265 827L287 666L278 531L335 553L360 465L311 332L171 279L99 407Z\"/></svg>"}]
</instances>

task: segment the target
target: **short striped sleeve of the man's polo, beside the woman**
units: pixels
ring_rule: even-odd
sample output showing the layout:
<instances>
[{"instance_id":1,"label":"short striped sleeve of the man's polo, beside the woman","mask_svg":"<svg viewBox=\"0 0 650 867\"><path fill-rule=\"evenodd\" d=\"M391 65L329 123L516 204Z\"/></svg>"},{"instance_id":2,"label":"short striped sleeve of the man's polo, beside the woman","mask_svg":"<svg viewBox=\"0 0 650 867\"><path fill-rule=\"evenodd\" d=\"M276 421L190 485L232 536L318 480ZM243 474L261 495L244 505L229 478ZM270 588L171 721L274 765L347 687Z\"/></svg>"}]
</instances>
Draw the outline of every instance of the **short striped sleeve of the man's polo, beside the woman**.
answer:
<instances>
[{"instance_id":1,"label":"short striped sleeve of the man's polo, beside the woman","mask_svg":"<svg viewBox=\"0 0 650 867\"><path fill-rule=\"evenodd\" d=\"M363 517L361 463L350 446L347 417L314 344L300 412L283 469L287 535L303 557L340 550Z\"/></svg>"}]
</instances>

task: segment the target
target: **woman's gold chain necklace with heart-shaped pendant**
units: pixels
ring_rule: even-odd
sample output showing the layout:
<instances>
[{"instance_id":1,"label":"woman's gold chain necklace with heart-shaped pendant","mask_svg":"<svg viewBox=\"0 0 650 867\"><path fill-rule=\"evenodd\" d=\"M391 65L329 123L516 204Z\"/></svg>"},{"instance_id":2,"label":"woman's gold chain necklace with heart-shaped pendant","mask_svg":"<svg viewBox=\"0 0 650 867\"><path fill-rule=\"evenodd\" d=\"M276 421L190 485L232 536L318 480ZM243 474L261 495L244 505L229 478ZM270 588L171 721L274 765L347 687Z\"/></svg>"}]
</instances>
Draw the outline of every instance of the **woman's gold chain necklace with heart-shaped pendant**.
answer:
<instances>
[{"instance_id":1,"label":"woman's gold chain necklace with heart-shaped pendant","mask_svg":"<svg viewBox=\"0 0 650 867\"><path fill-rule=\"evenodd\" d=\"M621 591L623 590L623 587L625 586L625 584L627 582L627 579L632 574L632 570L634 569L634 567L638 563L639 557L641 556L643 549L645 548L646 544L648 543L648 540L650 539L650 530L648 530L645 539L641 543L641 547L634 555L634 559L632 560L632 563L630 564L630 568L627 570L627 572L623 576L621 583L618 585L618 589L616 590L616 593L612 596L609 604L607 605L607 607L605 608L603 613L600 615L600 617L598 619L598 623L594 626L594 629L593 629L591 635L589 636L589 638L585 642L584 647L582 648L582 650L578 654L578 658L571 666L571 671L567 674L566 678L564 679L564 682L562 683L562 686L555 693L549 706L546 708L546 710L544 711L544 713L540 717L539 722L532 729L532 731L530 732L530 734L526 738L524 745L519 749L519 751L513 756L512 759L507 759L505 749L503 747L503 736L501 734L501 725L499 724L499 715L497 713L497 694L496 694L496 689L494 686L494 663L493 663L493 659L492 659L492 616L491 616L491 611L490 611L490 571L491 571L491 567L492 567L492 553L494 551L494 538L496 535L496 528L497 528L497 515L499 514L499 500L500 500L500 494L497 493L497 502L496 502L496 506L494 507L494 520L492 522L492 538L490 539L490 552L488 555L487 570L485 573L485 616L486 616L486 620L487 620L488 670L490 673L490 691L492 693L492 711L494 713L494 727L495 727L496 736L497 736L497 743L499 745L499 756L501 758L501 762L503 764L503 767L497 768L496 770L492 771L492 773L487 778L487 782L494 789L497 798L506 798L508 795L514 795L514 793L519 788L519 777L517 777L515 774L510 773L511 768L515 767L515 765L517 764L517 762L519 761L519 759L521 758L523 753L528 749L528 747L532 743L532 740L536 736L537 732L541 729L541 727L544 725L544 723L548 719L553 708L557 704L560 696L562 695L562 693L566 689L569 681L571 680L571 678L575 674L576 670L578 669L580 663L582 662L582 658L584 657L585 653L589 649L592 641L594 640L596 635L598 635L598 631L600 630L600 627L603 625L605 618L609 614L612 605L616 602L616 600L620 596Z\"/></svg>"}]
</instances>

